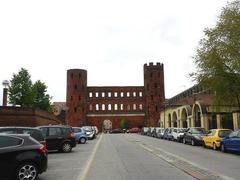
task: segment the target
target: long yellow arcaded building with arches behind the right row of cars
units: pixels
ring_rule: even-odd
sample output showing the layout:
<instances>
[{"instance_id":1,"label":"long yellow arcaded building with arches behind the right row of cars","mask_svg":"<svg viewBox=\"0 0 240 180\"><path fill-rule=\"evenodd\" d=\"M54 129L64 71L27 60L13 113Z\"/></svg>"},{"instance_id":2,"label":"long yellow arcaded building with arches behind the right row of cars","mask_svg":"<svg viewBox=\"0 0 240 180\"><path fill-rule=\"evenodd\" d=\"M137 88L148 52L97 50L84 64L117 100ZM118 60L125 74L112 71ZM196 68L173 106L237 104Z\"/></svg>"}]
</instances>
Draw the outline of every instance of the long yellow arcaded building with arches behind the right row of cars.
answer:
<instances>
[{"instance_id":1,"label":"long yellow arcaded building with arches behind the right row of cars","mask_svg":"<svg viewBox=\"0 0 240 180\"><path fill-rule=\"evenodd\" d=\"M195 85L168 99L160 113L160 126L164 128L203 127L240 128L238 107L214 106L213 93Z\"/></svg>"}]
</instances>

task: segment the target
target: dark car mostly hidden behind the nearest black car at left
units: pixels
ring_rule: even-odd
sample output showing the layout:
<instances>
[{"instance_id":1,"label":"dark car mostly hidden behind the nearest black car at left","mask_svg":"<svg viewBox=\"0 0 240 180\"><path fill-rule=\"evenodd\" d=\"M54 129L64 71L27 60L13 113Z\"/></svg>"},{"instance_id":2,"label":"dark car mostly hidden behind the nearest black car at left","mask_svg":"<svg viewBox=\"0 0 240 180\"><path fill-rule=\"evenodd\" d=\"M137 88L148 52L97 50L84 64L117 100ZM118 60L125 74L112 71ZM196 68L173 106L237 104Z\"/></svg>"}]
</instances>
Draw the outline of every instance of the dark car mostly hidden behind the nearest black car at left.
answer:
<instances>
[{"instance_id":1,"label":"dark car mostly hidden behind the nearest black car at left","mask_svg":"<svg viewBox=\"0 0 240 180\"><path fill-rule=\"evenodd\" d=\"M41 130L31 127L0 127L0 133L6 134L29 134L38 142L46 147L46 140L44 139Z\"/></svg>"}]
</instances>

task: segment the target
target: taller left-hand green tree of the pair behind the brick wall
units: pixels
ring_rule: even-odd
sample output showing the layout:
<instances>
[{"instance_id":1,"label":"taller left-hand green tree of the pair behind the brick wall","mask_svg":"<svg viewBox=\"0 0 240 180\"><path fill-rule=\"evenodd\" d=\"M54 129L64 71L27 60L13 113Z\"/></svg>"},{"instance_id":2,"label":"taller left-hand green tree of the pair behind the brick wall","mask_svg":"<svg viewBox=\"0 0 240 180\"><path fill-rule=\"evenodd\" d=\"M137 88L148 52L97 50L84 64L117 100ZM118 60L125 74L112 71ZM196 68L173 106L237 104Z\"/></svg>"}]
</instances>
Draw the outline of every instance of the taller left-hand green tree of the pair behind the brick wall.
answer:
<instances>
[{"instance_id":1,"label":"taller left-hand green tree of the pair behind the brick wall","mask_svg":"<svg viewBox=\"0 0 240 180\"><path fill-rule=\"evenodd\" d=\"M24 68L13 74L10 80L9 102L21 107L31 107L33 104L31 76Z\"/></svg>"}]
</instances>

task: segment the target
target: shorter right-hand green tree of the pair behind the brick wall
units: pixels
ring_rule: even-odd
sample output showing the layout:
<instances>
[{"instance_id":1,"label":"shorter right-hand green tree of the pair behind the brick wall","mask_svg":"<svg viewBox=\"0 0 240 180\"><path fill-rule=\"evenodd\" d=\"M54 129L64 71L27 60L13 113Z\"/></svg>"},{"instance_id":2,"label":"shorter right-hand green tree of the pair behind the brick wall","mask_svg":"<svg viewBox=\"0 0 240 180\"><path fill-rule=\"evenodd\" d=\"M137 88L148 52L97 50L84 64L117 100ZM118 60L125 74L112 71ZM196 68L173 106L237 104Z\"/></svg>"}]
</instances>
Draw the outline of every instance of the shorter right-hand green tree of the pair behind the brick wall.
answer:
<instances>
[{"instance_id":1,"label":"shorter right-hand green tree of the pair behind the brick wall","mask_svg":"<svg viewBox=\"0 0 240 180\"><path fill-rule=\"evenodd\" d=\"M51 111L51 98L47 92L47 86L40 80L35 82L32 86L33 91L33 107L46 111Z\"/></svg>"}]
</instances>

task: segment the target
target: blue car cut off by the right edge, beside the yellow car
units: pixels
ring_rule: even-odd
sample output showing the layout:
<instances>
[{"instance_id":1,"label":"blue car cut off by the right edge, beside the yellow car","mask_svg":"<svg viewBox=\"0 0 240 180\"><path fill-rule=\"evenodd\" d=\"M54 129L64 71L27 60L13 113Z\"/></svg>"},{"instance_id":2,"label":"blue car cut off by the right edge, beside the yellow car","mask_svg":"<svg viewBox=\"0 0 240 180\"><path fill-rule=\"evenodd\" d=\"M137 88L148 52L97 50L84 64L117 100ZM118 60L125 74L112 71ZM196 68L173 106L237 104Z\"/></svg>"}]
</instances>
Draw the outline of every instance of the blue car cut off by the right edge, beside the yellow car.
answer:
<instances>
[{"instance_id":1,"label":"blue car cut off by the right edge, beside the yellow car","mask_svg":"<svg viewBox=\"0 0 240 180\"><path fill-rule=\"evenodd\" d=\"M221 140L221 150L223 152L232 151L240 153L240 129L233 131L229 136Z\"/></svg>"}]
</instances>

